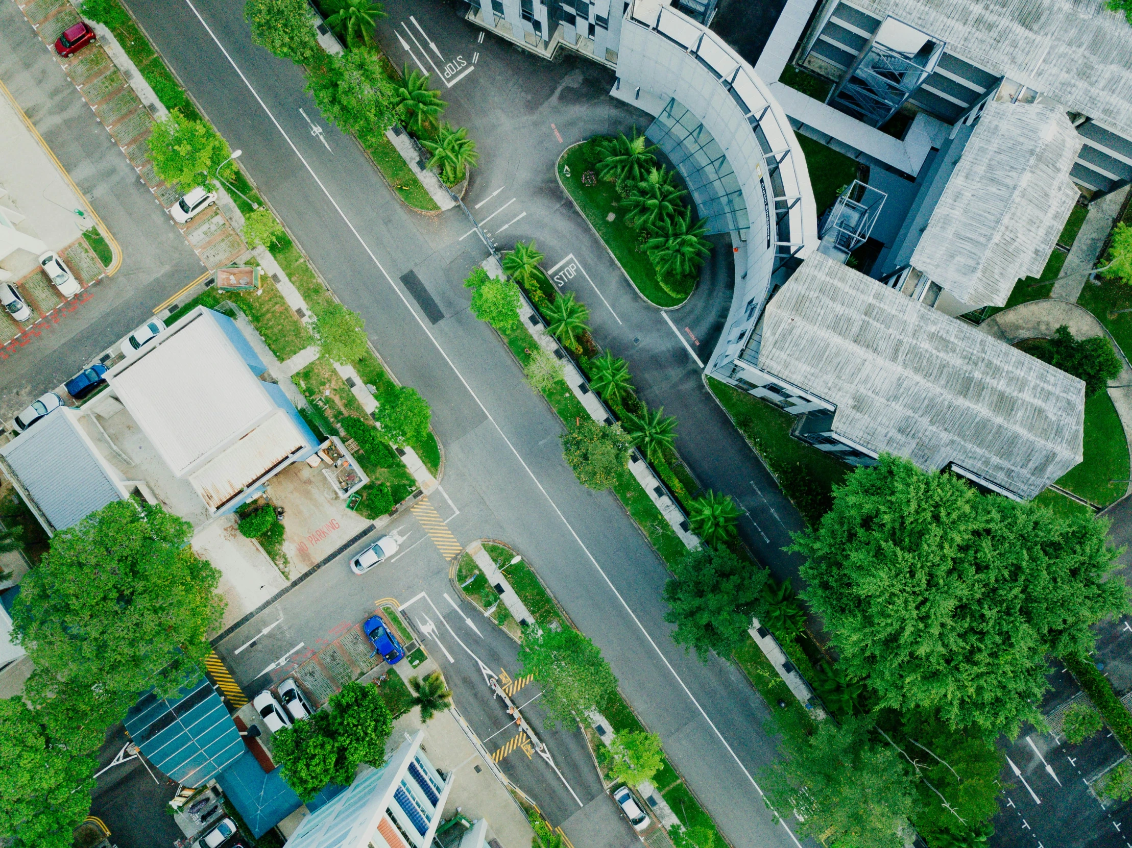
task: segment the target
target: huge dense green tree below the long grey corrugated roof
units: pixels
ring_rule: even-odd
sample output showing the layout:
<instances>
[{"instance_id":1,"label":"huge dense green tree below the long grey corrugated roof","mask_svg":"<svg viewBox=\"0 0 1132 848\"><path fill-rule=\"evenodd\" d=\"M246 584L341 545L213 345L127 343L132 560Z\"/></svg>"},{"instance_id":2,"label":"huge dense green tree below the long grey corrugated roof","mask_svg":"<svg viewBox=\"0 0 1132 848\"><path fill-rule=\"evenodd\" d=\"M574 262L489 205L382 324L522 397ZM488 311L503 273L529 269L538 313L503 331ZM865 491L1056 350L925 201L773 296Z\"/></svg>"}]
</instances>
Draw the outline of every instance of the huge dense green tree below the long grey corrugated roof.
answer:
<instances>
[{"instance_id":1,"label":"huge dense green tree below the long grey corrugated roof","mask_svg":"<svg viewBox=\"0 0 1132 848\"><path fill-rule=\"evenodd\" d=\"M790 550L840 664L880 706L1014 734L1036 717L1045 655L1088 654L1089 626L1127 609L1106 531L884 456Z\"/></svg>"}]
</instances>

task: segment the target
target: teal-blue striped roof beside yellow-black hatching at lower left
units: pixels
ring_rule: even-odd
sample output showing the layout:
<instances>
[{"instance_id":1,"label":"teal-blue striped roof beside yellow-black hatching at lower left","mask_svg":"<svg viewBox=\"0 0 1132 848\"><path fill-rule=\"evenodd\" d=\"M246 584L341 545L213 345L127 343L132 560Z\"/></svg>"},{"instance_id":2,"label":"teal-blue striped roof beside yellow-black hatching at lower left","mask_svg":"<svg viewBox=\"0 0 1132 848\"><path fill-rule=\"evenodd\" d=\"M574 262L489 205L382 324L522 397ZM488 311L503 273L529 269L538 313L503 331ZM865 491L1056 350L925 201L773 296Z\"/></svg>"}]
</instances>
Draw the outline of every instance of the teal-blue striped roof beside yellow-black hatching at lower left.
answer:
<instances>
[{"instance_id":1,"label":"teal-blue striped roof beside yellow-black hatching at lower left","mask_svg":"<svg viewBox=\"0 0 1132 848\"><path fill-rule=\"evenodd\" d=\"M206 677L172 698L142 695L126 713L126 730L149 762L185 786L203 786L247 751Z\"/></svg>"}]
</instances>

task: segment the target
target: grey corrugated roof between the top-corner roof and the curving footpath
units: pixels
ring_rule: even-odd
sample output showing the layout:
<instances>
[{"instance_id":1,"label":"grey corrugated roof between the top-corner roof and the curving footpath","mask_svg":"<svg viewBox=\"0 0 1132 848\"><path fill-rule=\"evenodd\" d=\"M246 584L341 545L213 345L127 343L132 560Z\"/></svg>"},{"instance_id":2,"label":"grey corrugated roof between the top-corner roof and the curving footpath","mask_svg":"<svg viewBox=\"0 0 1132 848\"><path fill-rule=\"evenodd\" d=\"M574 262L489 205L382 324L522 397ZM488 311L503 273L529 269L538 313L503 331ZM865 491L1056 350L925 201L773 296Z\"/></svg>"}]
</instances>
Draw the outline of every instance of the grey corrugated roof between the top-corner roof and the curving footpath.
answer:
<instances>
[{"instance_id":1,"label":"grey corrugated roof between the top-corner roof and the curving footpath","mask_svg":"<svg viewBox=\"0 0 1132 848\"><path fill-rule=\"evenodd\" d=\"M963 303L1005 305L1041 274L1081 193L1069 179L1081 145L1060 106L987 103L911 265Z\"/></svg>"}]
</instances>

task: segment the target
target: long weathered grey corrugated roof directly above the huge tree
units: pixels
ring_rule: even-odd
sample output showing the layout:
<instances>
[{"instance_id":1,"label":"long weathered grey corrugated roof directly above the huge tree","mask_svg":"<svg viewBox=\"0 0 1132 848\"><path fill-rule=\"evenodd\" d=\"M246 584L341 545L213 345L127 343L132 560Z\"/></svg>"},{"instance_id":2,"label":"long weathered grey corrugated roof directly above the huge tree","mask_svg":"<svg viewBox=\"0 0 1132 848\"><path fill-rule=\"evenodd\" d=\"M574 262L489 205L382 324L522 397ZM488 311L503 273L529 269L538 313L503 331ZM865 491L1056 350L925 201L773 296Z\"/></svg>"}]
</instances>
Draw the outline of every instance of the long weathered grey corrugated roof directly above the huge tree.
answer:
<instances>
[{"instance_id":1,"label":"long weathered grey corrugated roof directly above the huge tree","mask_svg":"<svg viewBox=\"0 0 1132 848\"><path fill-rule=\"evenodd\" d=\"M1084 383L815 254L767 304L758 367L837 405L834 432L1034 497L1081 461Z\"/></svg>"}]
</instances>

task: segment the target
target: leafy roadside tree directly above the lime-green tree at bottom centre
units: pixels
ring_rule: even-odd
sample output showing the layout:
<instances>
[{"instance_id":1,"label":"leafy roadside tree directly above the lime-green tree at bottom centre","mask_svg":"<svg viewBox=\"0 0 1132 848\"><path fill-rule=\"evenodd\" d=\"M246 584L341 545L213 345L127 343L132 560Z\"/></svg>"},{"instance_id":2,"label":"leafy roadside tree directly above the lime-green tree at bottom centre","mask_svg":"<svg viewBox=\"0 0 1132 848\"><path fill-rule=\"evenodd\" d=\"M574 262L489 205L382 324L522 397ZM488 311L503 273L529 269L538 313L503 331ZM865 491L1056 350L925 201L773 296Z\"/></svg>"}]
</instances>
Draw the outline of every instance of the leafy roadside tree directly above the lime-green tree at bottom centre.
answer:
<instances>
[{"instance_id":1,"label":"leafy roadside tree directly above the lime-green tree at bottom centre","mask_svg":"<svg viewBox=\"0 0 1132 848\"><path fill-rule=\"evenodd\" d=\"M518 661L542 689L542 708L552 720L575 725L617 692L617 678L598 646L573 628L528 628Z\"/></svg>"}]
</instances>

